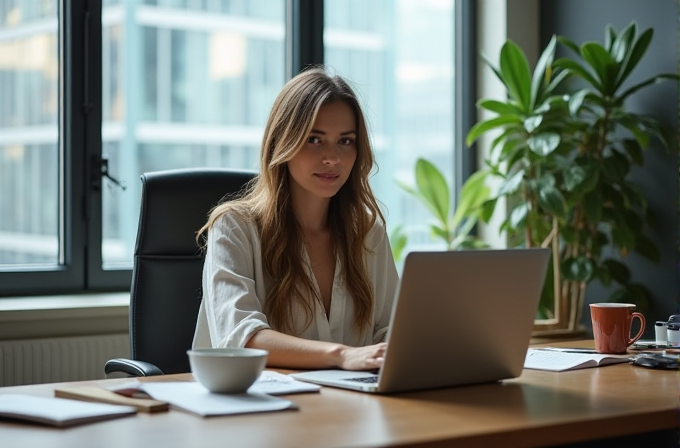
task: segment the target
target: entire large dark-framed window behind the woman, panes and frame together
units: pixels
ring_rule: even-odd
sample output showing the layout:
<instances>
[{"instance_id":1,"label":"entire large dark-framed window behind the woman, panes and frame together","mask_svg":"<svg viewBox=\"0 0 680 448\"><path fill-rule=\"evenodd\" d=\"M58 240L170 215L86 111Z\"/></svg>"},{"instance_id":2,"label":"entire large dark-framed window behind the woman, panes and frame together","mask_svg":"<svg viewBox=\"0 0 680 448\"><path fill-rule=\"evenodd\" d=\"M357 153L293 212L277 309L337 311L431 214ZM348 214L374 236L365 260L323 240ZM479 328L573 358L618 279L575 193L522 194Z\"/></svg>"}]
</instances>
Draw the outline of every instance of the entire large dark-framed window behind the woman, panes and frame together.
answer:
<instances>
[{"instance_id":1,"label":"entire large dark-framed window behind the woman, panes and frame together","mask_svg":"<svg viewBox=\"0 0 680 448\"><path fill-rule=\"evenodd\" d=\"M412 249L436 245L395 180L412 181L419 156L458 175L455 3L3 0L0 295L126 290L140 174L258 169L291 60L353 81L388 225L406 225Z\"/></svg>"}]
</instances>

